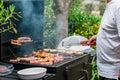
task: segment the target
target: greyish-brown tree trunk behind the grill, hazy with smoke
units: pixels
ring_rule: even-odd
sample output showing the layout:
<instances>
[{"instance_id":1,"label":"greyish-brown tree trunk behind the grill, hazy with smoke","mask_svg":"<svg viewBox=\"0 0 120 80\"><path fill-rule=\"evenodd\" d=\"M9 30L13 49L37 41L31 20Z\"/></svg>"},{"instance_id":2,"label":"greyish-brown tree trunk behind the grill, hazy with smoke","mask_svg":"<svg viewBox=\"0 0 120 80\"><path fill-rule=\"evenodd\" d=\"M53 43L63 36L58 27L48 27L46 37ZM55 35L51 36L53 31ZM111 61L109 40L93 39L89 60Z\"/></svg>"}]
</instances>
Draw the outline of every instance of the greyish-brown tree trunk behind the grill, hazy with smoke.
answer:
<instances>
[{"instance_id":1,"label":"greyish-brown tree trunk behind the grill, hazy with smoke","mask_svg":"<svg viewBox=\"0 0 120 80\"><path fill-rule=\"evenodd\" d=\"M54 0L53 10L56 16L57 42L68 36L68 12L75 0Z\"/></svg>"}]
</instances>

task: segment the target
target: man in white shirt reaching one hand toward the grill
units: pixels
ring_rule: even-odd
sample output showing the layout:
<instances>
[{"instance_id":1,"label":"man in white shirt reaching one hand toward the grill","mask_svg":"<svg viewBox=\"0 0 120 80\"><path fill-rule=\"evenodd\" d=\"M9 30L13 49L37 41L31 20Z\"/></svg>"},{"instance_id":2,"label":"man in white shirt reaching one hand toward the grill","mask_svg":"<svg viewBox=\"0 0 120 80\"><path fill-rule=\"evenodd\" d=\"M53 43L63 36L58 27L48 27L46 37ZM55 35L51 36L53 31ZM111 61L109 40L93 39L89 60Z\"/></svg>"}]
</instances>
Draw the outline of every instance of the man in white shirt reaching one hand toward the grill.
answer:
<instances>
[{"instance_id":1,"label":"man in white shirt reaching one hand toward the grill","mask_svg":"<svg viewBox=\"0 0 120 80\"><path fill-rule=\"evenodd\" d=\"M97 35L83 45L96 45L100 80L118 80L120 71L120 0L106 0L107 5Z\"/></svg>"}]
</instances>

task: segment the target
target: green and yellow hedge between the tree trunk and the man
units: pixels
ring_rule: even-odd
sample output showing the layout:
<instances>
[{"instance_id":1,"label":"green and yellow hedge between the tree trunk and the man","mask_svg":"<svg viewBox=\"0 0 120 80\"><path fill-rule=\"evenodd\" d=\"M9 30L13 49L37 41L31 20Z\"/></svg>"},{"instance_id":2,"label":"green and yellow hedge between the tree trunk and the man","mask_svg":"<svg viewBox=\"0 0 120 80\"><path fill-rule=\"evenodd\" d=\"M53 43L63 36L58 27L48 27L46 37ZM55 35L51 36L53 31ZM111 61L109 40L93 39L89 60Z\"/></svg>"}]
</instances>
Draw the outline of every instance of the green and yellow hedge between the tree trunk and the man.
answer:
<instances>
[{"instance_id":1,"label":"green and yellow hedge between the tree trunk and the man","mask_svg":"<svg viewBox=\"0 0 120 80\"><path fill-rule=\"evenodd\" d=\"M88 5L90 7L90 5ZM80 9L80 2L76 0L69 11L68 25L69 35L77 35L90 38L98 33L101 16L94 16ZM92 80L99 80L96 60L92 63Z\"/></svg>"}]
</instances>

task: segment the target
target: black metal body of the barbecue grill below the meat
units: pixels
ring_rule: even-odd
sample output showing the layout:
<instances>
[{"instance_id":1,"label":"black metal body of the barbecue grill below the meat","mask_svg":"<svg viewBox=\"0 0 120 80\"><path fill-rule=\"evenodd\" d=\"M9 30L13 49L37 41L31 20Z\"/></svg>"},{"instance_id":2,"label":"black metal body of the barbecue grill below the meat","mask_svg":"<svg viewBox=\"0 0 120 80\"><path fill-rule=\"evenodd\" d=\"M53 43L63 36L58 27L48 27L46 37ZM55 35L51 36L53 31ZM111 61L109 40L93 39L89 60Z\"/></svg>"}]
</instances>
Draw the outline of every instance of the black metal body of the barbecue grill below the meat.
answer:
<instances>
[{"instance_id":1,"label":"black metal body of the barbecue grill below the meat","mask_svg":"<svg viewBox=\"0 0 120 80\"><path fill-rule=\"evenodd\" d=\"M8 61L9 58L4 58L2 61L10 63ZM30 67L45 67L47 68L47 73L55 74L55 80L89 80L91 78L91 65L88 65L89 60L90 54L84 53L81 55L72 55L72 58L64 59L63 61L54 63L52 65L39 65L25 62L12 64L14 65L15 70L21 70Z\"/></svg>"}]
</instances>

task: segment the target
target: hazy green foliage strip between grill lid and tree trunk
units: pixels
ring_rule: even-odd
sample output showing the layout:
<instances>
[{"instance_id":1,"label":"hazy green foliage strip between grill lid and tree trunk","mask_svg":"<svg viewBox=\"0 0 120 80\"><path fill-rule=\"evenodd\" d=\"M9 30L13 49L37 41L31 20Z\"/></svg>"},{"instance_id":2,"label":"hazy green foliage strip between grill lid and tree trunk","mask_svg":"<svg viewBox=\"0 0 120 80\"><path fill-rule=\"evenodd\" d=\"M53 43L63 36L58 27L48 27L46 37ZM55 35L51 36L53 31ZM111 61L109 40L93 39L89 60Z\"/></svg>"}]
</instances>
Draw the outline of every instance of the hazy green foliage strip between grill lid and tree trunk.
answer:
<instances>
[{"instance_id":1,"label":"hazy green foliage strip between grill lid and tree trunk","mask_svg":"<svg viewBox=\"0 0 120 80\"><path fill-rule=\"evenodd\" d=\"M53 0L45 0L44 7L44 47L55 48L56 43L56 27L55 27L55 15L52 9Z\"/></svg>"}]
</instances>

